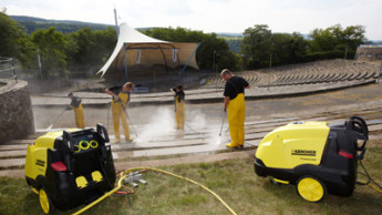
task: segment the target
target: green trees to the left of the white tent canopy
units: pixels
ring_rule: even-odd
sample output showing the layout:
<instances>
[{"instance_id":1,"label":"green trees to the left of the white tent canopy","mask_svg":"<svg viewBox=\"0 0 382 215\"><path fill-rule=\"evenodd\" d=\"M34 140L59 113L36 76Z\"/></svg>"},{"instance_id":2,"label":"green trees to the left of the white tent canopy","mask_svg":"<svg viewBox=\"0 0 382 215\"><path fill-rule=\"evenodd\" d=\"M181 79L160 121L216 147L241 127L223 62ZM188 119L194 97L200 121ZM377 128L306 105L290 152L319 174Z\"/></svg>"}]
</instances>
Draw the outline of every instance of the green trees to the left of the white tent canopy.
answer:
<instances>
[{"instance_id":1,"label":"green trees to the left of the white tent canopy","mask_svg":"<svg viewBox=\"0 0 382 215\"><path fill-rule=\"evenodd\" d=\"M43 79L49 79L52 72L66 75L68 68L73 71L89 70L93 64L99 66L107 60L116 43L116 32L112 28L103 27L104 30L94 31L90 27L65 34L62 31L66 31L62 28L61 30L54 27L45 28L51 25L47 20L34 18L27 22L34 23L35 27L41 27L42 23L45 25L38 30L32 29L33 32L28 35L18 22L0 12L0 55L16 58L24 69L37 71L39 69L37 49L39 49ZM86 23L65 24L79 28Z\"/></svg>"}]
</instances>

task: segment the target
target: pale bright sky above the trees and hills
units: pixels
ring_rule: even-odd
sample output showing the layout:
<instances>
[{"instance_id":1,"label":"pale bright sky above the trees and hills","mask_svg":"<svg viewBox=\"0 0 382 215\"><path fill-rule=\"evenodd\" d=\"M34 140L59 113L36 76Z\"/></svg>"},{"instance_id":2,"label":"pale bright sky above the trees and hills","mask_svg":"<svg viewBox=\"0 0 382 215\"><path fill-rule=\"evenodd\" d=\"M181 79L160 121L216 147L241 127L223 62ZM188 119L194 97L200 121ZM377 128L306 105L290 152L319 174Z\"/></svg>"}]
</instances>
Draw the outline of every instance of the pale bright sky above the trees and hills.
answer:
<instances>
[{"instance_id":1,"label":"pale bright sky above the trees and hills","mask_svg":"<svg viewBox=\"0 0 382 215\"><path fill-rule=\"evenodd\" d=\"M255 24L272 32L310 33L334 24L363 25L369 40L382 40L381 0L0 0L10 16L76 20L133 28L182 27L242 33Z\"/></svg>"}]
</instances>

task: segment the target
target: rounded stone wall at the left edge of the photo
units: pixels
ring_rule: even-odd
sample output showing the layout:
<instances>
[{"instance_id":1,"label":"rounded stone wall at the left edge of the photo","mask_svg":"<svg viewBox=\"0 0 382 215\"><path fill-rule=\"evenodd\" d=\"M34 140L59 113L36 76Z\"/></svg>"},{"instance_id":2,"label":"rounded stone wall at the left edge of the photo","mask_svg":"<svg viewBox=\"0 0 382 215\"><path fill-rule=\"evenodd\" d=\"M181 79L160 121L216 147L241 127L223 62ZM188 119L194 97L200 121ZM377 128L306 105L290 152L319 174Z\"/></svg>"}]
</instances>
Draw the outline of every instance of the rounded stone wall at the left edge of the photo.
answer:
<instances>
[{"instance_id":1,"label":"rounded stone wall at the left edge of the photo","mask_svg":"<svg viewBox=\"0 0 382 215\"><path fill-rule=\"evenodd\" d=\"M0 79L0 144L34 133L28 82Z\"/></svg>"}]
</instances>

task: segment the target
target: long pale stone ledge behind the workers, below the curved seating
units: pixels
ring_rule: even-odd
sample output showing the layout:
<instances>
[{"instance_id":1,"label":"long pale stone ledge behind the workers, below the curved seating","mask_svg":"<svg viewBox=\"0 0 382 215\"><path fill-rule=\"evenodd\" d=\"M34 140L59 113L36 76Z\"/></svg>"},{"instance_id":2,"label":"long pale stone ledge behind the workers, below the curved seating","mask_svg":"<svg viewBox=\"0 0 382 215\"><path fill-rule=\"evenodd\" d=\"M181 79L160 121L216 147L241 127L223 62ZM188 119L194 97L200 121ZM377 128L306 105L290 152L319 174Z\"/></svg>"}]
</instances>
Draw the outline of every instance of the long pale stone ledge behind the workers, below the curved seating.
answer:
<instances>
[{"instance_id":1,"label":"long pale stone ledge behind the workers, below the curved seating","mask_svg":"<svg viewBox=\"0 0 382 215\"><path fill-rule=\"evenodd\" d=\"M299 85L259 88L257 85L246 90L246 100L285 98L292 95L303 95L319 92L328 92L357 85L374 83L374 80L355 80L337 83L312 83ZM223 89L196 89L187 90L187 103L211 103L223 101ZM64 106L70 103L66 98L68 93L47 93L44 95L32 95L33 106ZM106 93L96 92L76 92L75 95L82 98L84 106L107 105L111 96ZM136 93L132 94L132 105L143 104L172 104L174 98L171 92L162 93Z\"/></svg>"}]
</instances>

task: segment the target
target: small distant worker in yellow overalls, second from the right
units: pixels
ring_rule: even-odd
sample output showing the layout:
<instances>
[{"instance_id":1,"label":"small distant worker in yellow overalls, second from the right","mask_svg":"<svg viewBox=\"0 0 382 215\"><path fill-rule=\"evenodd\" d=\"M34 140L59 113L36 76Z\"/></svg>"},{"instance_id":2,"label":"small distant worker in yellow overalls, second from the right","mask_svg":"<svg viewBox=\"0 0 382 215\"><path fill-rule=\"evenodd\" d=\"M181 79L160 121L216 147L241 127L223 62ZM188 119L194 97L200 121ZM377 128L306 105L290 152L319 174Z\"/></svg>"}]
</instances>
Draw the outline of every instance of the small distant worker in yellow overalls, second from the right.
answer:
<instances>
[{"instance_id":1,"label":"small distant worker in yellow overalls, second from the right","mask_svg":"<svg viewBox=\"0 0 382 215\"><path fill-rule=\"evenodd\" d=\"M185 93L182 85L177 85L175 89L171 89L175 98L175 120L176 130L184 130L185 124Z\"/></svg>"}]
</instances>

